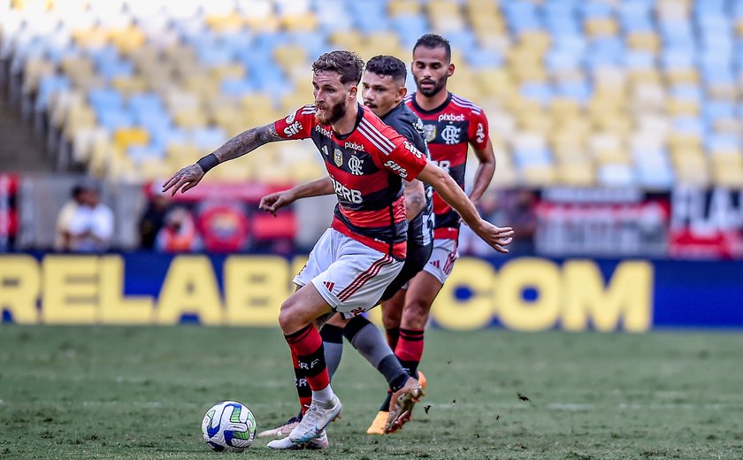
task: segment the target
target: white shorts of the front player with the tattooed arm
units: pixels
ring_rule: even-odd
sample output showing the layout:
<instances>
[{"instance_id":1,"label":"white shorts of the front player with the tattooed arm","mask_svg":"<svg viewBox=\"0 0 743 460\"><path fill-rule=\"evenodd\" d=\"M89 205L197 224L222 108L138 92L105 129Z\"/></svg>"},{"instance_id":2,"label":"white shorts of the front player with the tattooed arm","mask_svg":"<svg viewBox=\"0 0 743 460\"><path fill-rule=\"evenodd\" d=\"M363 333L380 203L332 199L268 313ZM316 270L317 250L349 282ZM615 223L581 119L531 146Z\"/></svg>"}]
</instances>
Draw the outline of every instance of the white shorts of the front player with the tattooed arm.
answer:
<instances>
[{"instance_id":1,"label":"white shorts of the front player with the tattooed arm","mask_svg":"<svg viewBox=\"0 0 743 460\"><path fill-rule=\"evenodd\" d=\"M310 259L293 280L311 282L343 318L371 310L387 285L402 270L402 261L371 249L328 228L310 252Z\"/></svg>"}]
</instances>

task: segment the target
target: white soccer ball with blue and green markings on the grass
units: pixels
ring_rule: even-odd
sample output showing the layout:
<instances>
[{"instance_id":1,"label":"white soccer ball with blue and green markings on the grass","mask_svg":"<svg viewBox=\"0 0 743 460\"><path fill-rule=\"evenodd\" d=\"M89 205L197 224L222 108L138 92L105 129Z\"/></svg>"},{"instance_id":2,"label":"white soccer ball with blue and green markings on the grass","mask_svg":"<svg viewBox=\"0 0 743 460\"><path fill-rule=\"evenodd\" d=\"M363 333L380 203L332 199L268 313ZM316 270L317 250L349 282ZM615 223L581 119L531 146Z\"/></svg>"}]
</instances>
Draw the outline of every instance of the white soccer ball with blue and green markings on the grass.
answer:
<instances>
[{"instance_id":1,"label":"white soccer ball with blue and green markings on the grass","mask_svg":"<svg viewBox=\"0 0 743 460\"><path fill-rule=\"evenodd\" d=\"M218 452L242 452L256 439L256 418L235 401L214 404L202 421L203 441Z\"/></svg>"}]
</instances>

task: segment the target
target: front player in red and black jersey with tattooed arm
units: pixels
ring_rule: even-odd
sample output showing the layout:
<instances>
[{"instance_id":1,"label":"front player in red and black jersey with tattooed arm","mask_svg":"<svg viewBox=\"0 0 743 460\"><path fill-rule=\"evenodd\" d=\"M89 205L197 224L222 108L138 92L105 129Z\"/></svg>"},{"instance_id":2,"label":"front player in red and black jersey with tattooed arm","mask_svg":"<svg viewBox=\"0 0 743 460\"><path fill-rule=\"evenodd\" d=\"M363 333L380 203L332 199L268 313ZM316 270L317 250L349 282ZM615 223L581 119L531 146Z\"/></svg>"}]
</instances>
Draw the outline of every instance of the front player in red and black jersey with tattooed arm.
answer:
<instances>
[{"instance_id":1,"label":"front player in red and black jersey with tattooed arm","mask_svg":"<svg viewBox=\"0 0 743 460\"><path fill-rule=\"evenodd\" d=\"M275 449L297 449L322 440L326 426L341 413L341 401L330 386L322 339L313 323L334 312L352 317L370 309L402 269L407 238L402 179L417 178L432 185L496 250L507 252L503 246L513 234L510 228L481 219L446 172L356 101L363 67L355 53L324 54L312 65L314 105L236 135L163 185L172 194L188 191L211 168L267 142L310 138L325 161L338 197L333 223L295 277L299 288L281 305L279 315L295 375L309 383L311 402L285 442L269 443ZM402 398L401 407L408 410L422 395L417 380L407 375L401 376L397 387L394 397Z\"/></svg>"}]
</instances>

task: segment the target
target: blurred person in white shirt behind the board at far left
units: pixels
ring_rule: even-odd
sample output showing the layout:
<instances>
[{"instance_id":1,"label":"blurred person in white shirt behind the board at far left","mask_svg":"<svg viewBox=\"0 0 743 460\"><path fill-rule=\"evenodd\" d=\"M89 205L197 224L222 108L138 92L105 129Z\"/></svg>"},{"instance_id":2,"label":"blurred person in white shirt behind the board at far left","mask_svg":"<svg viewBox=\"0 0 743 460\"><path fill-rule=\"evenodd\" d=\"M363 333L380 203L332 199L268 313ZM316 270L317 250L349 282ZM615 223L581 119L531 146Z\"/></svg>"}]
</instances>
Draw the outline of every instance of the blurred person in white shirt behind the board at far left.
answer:
<instances>
[{"instance_id":1,"label":"blurred person in white shirt behind the board at far left","mask_svg":"<svg viewBox=\"0 0 743 460\"><path fill-rule=\"evenodd\" d=\"M73 188L73 201L65 204L57 218L56 249L73 252L103 252L111 245L113 212L101 203L92 184Z\"/></svg>"}]
</instances>

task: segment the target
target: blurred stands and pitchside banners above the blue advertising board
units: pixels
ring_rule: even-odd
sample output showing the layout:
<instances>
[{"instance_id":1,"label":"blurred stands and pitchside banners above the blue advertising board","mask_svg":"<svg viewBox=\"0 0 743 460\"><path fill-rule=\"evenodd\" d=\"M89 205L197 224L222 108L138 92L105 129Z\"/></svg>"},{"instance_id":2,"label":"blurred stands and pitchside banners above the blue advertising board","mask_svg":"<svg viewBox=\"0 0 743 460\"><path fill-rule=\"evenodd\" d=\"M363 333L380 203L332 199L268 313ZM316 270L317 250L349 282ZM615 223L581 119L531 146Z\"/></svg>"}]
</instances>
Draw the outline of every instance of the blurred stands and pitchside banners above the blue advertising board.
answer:
<instances>
[{"instance_id":1,"label":"blurred stands and pitchside banners above the blue advertising board","mask_svg":"<svg viewBox=\"0 0 743 460\"><path fill-rule=\"evenodd\" d=\"M325 174L311 144L159 184L311 103L319 54L408 62L432 31L489 119L480 211L514 254L743 257L739 0L0 0L0 249L309 249L332 197L257 201Z\"/></svg>"}]
</instances>

